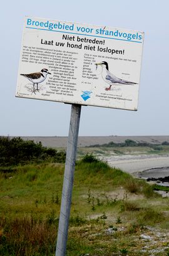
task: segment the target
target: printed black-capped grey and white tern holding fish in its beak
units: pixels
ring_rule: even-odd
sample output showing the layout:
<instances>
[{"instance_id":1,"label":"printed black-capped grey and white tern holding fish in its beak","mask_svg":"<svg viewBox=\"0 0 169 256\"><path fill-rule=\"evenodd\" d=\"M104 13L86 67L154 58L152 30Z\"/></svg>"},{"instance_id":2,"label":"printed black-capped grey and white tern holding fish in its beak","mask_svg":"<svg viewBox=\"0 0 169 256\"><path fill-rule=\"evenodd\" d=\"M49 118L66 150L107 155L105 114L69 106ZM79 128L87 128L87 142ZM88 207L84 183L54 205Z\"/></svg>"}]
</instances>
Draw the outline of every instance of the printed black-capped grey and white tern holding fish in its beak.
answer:
<instances>
[{"instance_id":1,"label":"printed black-capped grey and white tern holding fish in its beak","mask_svg":"<svg viewBox=\"0 0 169 256\"><path fill-rule=\"evenodd\" d=\"M123 80L121 78L116 77L115 75L113 75L109 70L108 70L108 63L106 61L102 61L100 63L96 63L96 69L98 67L98 65L101 65L102 71L101 71L101 76L103 78L103 80L106 83L110 84L110 87L106 88L105 90L110 90L111 86L115 83L120 83L123 85L136 85L137 83L134 82L130 82L130 81L126 81Z\"/></svg>"}]
</instances>

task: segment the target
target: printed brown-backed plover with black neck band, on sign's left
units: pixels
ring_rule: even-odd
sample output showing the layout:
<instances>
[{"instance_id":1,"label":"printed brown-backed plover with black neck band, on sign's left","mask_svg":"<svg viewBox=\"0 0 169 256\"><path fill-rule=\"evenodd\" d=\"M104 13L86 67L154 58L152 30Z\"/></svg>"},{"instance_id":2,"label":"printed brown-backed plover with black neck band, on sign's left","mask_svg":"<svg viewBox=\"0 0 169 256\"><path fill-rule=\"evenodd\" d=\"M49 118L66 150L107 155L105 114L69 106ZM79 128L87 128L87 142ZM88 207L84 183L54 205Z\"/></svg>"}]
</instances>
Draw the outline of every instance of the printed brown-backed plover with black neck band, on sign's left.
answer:
<instances>
[{"instance_id":1,"label":"printed brown-backed plover with black neck band, on sign's left","mask_svg":"<svg viewBox=\"0 0 169 256\"><path fill-rule=\"evenodd\" d=\"M35 92L38 91L39 92L39 88L38 88L38 84L43 82L47 75L51 75L51 73L48 72L47 68L43 68L41 70L41 72L37 72L37 73L30 73L30 74L20 74L23 75L23 77L28 78L29 81L31 81L33 83L33 93L36 94ZM36 85L36 89L34 88L34 85Z\"/></svg>"}]
</instances>

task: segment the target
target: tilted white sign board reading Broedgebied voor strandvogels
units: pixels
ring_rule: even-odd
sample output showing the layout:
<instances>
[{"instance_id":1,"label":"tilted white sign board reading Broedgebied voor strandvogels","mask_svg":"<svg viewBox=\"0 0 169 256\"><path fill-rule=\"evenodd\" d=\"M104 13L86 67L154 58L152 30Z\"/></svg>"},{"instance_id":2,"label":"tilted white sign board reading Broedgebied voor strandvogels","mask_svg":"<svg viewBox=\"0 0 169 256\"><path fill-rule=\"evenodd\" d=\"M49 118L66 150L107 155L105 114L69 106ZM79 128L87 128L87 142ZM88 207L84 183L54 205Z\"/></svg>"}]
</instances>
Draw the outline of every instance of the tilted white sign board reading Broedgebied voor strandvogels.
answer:
<instances>
[{"instance_id":1,"label":"tilted white sign board reading Broedgebied voor strandvogels","mask_svg":"<svg viewBox=\"0 0 169 256\"><path fill-rule=\"evenodd\" d=\"M137 110L143 37L26 17L16 97Z\"/></svg>"}]
</instances>

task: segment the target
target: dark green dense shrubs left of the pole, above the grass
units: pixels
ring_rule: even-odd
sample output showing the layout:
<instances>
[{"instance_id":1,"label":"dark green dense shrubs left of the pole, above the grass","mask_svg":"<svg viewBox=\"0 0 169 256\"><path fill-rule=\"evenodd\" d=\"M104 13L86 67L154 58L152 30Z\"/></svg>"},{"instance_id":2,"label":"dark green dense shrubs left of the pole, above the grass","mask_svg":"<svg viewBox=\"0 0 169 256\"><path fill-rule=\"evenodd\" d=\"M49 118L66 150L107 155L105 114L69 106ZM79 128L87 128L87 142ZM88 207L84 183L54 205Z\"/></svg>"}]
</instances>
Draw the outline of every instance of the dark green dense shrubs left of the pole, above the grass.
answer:
<instances>
[{"instance_id":1,"label":"dark green dense shrubs left of the pole, above the grass","mask_svg":"<svg viewBox=\"0 0 169 256\"><path fill-rule=\"evenodd\" d=\"M42 161L64 163L65 156L65 152L43 147L41 142L24 141L20 137L0 137L0 166L3 167Z\"/></svg>"}]
</instances>

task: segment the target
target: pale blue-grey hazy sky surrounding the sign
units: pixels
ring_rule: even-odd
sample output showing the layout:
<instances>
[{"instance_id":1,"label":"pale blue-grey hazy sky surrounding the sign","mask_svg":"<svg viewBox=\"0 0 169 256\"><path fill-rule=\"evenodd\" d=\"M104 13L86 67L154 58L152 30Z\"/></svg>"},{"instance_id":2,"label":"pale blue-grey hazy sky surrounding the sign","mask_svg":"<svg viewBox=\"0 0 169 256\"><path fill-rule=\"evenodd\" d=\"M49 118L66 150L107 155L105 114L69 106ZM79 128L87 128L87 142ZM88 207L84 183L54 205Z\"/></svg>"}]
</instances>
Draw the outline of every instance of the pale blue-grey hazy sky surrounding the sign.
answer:
<instances>
[{"instance_id":1,"label":"pale blue-grey hazy sky surrounding the sign","mask_svg":"<svg viewBox=\"0 0 169 256\"><path fill-rule=\"evenodd\" d=\"M138 111L82 106L79 136L169 135L168 0L3 1L0 136L68 136L71 105L16 98L24 16L145 32Z\"/></svg>"}]
</instances>

